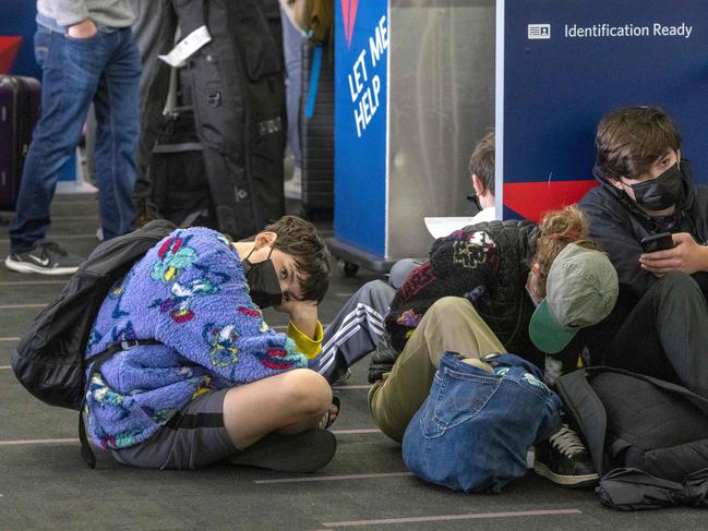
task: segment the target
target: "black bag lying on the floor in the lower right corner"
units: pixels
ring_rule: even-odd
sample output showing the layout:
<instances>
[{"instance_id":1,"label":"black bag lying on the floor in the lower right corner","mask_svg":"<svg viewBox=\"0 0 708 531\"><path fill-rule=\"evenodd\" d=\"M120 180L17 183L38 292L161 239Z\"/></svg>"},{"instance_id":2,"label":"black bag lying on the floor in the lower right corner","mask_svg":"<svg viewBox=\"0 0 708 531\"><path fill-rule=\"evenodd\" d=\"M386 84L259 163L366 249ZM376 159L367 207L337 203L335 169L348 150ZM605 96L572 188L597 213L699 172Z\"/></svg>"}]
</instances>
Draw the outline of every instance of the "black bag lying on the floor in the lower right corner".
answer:
<instances>
[{"instance_id":1,"label":"black bag lying on the floor in the lower right corner","mask_svg":"<svg viewBox=\"0 0 708 531\"><path fill-rule=\"evenodd\" d=\"M603 476L603 504L632 510L708 506L708 399L605 366L574 371L556 386Z\"/></svg>"}]
</instances>

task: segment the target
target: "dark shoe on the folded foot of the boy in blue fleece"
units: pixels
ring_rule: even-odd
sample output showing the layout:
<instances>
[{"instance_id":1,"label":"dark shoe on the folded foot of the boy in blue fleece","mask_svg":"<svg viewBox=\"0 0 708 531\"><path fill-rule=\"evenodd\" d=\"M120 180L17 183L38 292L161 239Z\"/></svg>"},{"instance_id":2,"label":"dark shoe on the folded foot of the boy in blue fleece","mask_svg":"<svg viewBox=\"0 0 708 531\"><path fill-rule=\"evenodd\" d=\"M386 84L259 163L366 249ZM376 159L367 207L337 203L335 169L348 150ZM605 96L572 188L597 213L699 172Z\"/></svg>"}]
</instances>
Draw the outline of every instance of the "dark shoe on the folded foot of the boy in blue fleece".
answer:
<instances>
[{"instance_id":1,"label":"dark shoe on the folded foot of the boy in blue fleece","mask_svg":"<svg viewBox=\"0 0 708 531\"><path fill-rule=\"evenodd\" d=\"M332 461L336 449L337 438L326 430L271 434L229 458L229 462L276 472L309 473Z\"/></svg>"}]
</instances>

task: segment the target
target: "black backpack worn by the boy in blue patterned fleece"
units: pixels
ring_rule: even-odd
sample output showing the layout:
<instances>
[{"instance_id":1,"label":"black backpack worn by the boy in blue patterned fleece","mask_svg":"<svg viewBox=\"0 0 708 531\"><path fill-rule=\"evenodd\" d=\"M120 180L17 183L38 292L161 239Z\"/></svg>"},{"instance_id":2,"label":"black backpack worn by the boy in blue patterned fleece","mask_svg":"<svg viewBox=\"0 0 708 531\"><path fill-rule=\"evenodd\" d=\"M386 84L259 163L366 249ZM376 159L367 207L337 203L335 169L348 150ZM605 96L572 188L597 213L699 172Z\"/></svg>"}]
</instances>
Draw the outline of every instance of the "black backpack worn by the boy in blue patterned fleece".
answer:
<instances>
[{"instance_id":1,"label":"black backpack worn by the boy in blue patterned fleece","mask_svg":"<svg viewBox=\"0 0 708 531\"><path fill-rule=\"evenodd\" d=\"M157 343L154 339L118 343L84 360L91 328L110 287L175 229L167 220L152 221L99 244L79 266L59 298L35 317L12 355L12 370L29 393L51 406L81 411L89 364L96 363L94 369L98 369L116 352ZM80 423L82 455L93 468L95 459L85 441L81 414Z\"/></svg>"}]
</instances>

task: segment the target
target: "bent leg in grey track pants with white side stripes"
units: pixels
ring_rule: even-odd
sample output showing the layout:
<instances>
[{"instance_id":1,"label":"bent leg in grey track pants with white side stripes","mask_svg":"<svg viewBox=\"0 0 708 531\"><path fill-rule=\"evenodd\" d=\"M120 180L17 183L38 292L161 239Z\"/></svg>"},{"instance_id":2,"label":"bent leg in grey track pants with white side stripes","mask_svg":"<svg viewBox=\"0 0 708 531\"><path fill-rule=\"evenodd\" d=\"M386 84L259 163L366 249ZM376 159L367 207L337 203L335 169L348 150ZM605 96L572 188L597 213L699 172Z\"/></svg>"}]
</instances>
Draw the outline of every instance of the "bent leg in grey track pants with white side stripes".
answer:
<instances>
[{"instance_id":1,"label":"bent leg in grey track pants with white side stripes","mask_svg":"<svg viewBox=\"0 0 708 531\"><path fill-rule=\"evenodd\" d=\"M373 351L384 334L384 315L395 294L382 280L359 288L324 330L322 352L310 369L334 382Z\"/></svg>"}]
</instances>

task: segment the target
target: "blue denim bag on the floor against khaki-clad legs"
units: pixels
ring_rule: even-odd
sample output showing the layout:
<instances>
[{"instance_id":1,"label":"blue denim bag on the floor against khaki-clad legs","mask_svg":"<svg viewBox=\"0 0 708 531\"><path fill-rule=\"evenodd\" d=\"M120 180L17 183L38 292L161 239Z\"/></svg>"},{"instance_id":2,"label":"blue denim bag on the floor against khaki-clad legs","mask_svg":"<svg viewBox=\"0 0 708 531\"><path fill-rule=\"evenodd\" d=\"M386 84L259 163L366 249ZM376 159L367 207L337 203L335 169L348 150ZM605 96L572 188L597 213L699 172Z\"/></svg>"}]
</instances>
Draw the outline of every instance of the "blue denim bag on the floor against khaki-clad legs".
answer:
<instances>
[{"instance_id":1,"label":"blue denim bag on the floor against khaki-clad legs","mask_svg":"<svg viewBox=\"0 0 708 531\"><path fill-rule=\"evenodd\" d=\"M526 454L561 429L561 400L541 372L513 354L491 354L492 375L445 352L428 399L413 415L403 458L419 478L455 491L499 492L526 473Z\"/></svg>"}]
</instances>

